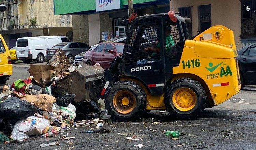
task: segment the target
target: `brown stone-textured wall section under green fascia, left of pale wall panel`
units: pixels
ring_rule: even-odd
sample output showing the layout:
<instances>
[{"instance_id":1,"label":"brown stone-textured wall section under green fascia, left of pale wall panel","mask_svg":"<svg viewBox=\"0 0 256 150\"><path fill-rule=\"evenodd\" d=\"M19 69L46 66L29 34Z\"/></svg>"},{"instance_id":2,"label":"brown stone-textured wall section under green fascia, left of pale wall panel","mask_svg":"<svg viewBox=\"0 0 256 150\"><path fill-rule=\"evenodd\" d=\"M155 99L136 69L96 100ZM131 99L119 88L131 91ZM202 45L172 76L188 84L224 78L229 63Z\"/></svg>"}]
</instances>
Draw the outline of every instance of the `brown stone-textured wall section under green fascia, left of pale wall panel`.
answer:
<instances>
[{"instance_id":1,"label":"brown stone-textured wall section under green fascia, left of pale wall panel","mask_svg":"<svg viewBox=\"0 0 256 150\"><path fill-rule=\"evenodd\" d=\"M73 15L73 40L89 44L88 15Z\"/></svg>"}]
</instances>

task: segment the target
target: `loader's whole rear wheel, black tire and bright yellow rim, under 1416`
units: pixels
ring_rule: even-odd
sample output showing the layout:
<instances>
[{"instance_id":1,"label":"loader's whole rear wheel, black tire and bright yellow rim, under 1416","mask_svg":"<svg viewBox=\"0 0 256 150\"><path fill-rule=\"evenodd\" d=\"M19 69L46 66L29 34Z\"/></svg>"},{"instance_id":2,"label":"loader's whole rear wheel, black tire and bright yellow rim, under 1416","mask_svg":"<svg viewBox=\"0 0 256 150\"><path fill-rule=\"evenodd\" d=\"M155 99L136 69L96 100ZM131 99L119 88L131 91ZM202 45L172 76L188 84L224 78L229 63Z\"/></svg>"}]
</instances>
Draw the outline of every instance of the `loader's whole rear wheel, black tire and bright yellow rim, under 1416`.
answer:
<instances>
[{"instance_id":1,"label":"loader's whole rear wheel, black tire and bright yellow rim, under 1416","mask_svg":"<svg viewBox=\"0 0 256 150\"><path fill-rule=\"evenodd\" d=\"M164 102L176 119L196 118L206 107L206 92L197 80L180 78L171 83Z\"/></svg>"}]
</instances>

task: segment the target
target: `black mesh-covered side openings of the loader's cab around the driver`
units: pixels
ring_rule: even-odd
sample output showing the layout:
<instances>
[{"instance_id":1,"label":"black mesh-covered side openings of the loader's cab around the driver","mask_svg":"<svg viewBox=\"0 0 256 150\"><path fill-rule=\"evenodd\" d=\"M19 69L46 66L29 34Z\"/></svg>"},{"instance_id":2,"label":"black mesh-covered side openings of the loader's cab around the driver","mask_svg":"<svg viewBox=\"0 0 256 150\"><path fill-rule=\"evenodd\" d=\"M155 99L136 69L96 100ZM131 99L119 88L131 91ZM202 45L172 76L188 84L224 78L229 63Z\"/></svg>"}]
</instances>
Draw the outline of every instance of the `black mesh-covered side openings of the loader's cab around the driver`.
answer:
<instances>
[{"instance_id":1,"label":"black mesh-covered side openings of the loader's cab around the driver","mask_svg":"<svg viewBox=\"0 0 256 150\"><path fill-rule=\"evenodd\" d=\"M160 17L136 21L126 50L125 65L162 62L162 51L168 59L181 54L178 27L168 16L164 20L163 33Z\"/></svg>"}]
</instances>

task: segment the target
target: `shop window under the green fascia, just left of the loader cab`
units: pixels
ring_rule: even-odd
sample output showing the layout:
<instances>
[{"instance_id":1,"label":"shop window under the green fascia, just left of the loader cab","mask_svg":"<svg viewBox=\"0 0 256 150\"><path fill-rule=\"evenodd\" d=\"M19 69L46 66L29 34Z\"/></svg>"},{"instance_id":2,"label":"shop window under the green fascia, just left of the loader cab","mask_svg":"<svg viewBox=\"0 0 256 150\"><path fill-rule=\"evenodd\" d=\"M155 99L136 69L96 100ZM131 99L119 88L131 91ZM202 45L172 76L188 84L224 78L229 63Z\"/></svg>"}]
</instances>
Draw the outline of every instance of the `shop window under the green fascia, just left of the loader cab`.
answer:
<instances>
[{"instance_id":1,"label":"shop window under the green fascia, just left of the loader cab","mask_svg":"<svg viewBox=\"0 0 256 150\"><path fill-rule=\"evenodd\" d=\"M125 20L125 18L114 19L115 37L126 35L127 25L122 22L123 20Z\"/></svg>"}]
</instances>

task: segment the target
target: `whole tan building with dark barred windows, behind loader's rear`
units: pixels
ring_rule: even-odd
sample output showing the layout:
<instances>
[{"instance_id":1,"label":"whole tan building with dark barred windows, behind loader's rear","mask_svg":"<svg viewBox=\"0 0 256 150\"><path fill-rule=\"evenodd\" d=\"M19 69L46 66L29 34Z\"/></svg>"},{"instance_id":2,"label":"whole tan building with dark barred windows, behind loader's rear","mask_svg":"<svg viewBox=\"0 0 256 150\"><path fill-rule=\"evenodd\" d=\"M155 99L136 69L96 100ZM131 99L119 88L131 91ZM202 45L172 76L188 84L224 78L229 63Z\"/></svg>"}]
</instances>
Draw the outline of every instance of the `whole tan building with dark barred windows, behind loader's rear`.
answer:
<instances>
[{"instance_id":1,"label":"whole tan building with dark barred windows, behind loader's rear","mask_svg":"<svg viewBox=\"0 0 256 150\"><path fill-rule=\"evenodd\" d=\"M192 19L193 36L224 25L234 31L237 50L256 42L256 0L171 0L170 10Z\"/></svg>"}]
</instances>

